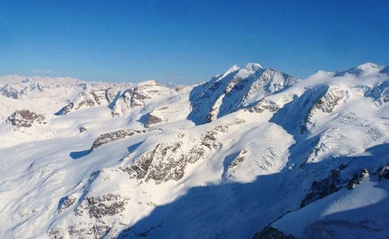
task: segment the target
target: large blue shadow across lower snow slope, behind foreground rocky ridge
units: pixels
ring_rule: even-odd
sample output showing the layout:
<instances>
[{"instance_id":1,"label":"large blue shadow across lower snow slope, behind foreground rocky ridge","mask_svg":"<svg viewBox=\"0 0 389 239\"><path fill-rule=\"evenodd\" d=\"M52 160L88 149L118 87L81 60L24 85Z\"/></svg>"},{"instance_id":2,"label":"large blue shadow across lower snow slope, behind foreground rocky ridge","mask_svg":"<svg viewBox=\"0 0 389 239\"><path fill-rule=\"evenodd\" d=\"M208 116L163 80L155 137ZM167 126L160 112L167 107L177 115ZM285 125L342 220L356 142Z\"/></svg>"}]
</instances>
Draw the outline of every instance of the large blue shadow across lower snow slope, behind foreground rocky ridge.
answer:
<instances>
[{"instance_id":1,"label":"large blue shadow across lower snow slope, behind foreground rocky ridge","mask_svg":"<svg viewBox=\"0 0 389 239\"><path fill-rule=\"evenodd\" d=\"M389 144L383 144L368 148L366 156L343 156L334 160L350 162L347 170L352 176L363 167L374 171L387 164L388 150ZM326 165L324 161L308 167L324 168ZM301 172L302 169L292 169L297 170ZM315 175L290 174L284 167L280 173L258 176L251 183L223 180L220 185L194 186L172 203L157 206L150 215L122 231L118 238L251 238L282 215L299 210L300 202L309 190L303 185L310 186L317 179L320 178ZM387 187L384 190L388 192ZM356 215L368 215L369 208L355 209ZM374 208L378 210L379 205Z\"/></svg>"}]
</instances>

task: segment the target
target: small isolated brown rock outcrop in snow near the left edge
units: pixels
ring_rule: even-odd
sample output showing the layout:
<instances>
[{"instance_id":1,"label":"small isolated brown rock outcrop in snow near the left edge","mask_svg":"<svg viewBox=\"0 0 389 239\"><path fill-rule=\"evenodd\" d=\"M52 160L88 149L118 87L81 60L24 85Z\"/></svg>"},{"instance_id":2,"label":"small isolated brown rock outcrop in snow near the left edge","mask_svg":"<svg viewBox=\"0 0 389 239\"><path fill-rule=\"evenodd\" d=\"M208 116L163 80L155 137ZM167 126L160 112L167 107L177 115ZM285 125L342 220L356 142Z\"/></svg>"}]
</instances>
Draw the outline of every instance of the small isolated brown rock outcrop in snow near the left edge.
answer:
<instances>
[{"instance_id":1,"label":"small isolated brown rock outcrop in snow near the left edge","mask_svg":"<svg viewBox=\"0 0 389 239\"><path fill-rule=\"evenodd\" d=\"M42 114L36 114L30 110L16 110L8 117L7 122L11 123L16 127L31 127L33 122L36 121L40 124L45 124L46 119Z\"/></svg>"}]
</instances>

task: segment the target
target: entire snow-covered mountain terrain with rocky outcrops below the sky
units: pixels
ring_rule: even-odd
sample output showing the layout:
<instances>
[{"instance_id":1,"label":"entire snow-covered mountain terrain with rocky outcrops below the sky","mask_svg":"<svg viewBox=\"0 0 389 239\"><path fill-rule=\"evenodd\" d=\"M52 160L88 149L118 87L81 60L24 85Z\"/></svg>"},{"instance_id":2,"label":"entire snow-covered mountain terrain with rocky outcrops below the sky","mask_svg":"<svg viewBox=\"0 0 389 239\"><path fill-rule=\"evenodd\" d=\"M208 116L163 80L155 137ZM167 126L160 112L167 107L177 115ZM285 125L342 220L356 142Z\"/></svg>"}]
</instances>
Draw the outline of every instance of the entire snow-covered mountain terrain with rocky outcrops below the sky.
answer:
<instances>
[{"instance_id":1,"label":"entire snow-covered mountain terrain with rocky outcrops below the sky","mask_svg":"<svg viewBox=\"0 0 389 239\"><path fill-rule=\"evenodd\" d=\"M0 238L389 238L389 67L0 77Z\"/></svg>"}]
</instances>

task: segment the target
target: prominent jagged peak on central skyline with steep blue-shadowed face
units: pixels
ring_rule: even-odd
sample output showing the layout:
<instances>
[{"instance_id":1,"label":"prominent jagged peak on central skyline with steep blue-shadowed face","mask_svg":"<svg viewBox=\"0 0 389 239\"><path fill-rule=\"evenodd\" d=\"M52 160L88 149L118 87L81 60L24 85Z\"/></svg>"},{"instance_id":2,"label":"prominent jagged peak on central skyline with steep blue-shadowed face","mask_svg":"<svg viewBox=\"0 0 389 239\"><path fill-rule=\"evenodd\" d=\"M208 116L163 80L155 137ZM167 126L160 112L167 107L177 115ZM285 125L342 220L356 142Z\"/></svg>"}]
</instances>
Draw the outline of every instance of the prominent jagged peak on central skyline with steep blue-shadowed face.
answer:
<instances>
[{"instance_id":1,"label":"prominent jagged peak on central skyline with steep blue-shadowed face","mask_svg":"<svg viewBox=\"0 0 389 239\"><path fill-rule=\"evenodd\" d=\"M234 71L232 71L234 70ZM263 69L260 64L232 68L222 76L197 86L191 97L188 119L201 124L258 103L264 97L299 81L285 73ZM199 91L199 92L196 92Z\"/></svg>"}]
</instances>

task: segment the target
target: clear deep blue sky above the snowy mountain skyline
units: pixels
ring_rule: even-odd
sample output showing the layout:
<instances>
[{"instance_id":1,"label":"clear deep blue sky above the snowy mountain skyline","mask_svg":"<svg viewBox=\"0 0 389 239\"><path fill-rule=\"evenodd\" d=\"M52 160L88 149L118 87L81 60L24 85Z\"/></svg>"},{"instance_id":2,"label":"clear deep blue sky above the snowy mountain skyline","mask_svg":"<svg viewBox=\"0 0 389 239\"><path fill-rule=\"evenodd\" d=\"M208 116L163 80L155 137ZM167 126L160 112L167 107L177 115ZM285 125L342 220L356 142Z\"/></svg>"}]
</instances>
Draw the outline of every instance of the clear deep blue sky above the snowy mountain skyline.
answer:
<instances>
[{"instance_id":1,"label":"clear deep blue sky above the snowy mountain skyline","mask_svg":"<svg viewBox=\"0 0 389 239\"><path fill-rule=\"evenodd\" d=\"M389 65L389 1L0 1L0 75L192 84L248 62Z\"/></svg>"}]
</instances>

